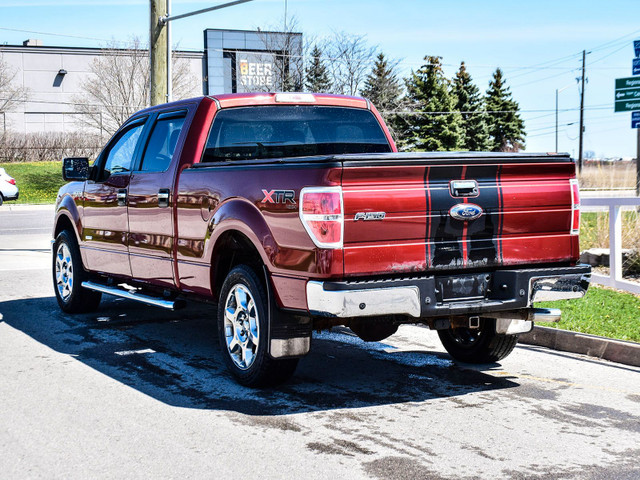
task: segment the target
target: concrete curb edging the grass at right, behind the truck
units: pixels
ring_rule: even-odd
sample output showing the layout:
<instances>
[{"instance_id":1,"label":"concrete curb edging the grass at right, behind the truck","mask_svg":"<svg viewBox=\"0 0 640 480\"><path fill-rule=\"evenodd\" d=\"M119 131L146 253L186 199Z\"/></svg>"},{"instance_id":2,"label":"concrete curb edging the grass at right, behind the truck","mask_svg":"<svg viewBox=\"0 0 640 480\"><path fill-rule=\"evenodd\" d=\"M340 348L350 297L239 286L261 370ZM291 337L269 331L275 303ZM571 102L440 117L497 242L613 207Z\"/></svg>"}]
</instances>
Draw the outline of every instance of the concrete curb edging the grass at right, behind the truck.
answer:
<instances>
[{"instance_id":1,"label":"concrete curb edging the grass at right, behind the truck","mask_svg":"<svg viewBox=\"0 0 640 480\"><path fill-rule=\"evenodd\" d=\"M519 343L538 345L563 352L580 353L611 362L640 367L640 343L570 332L551 327L533 327L520 335Z\"/></svg>"}]
</instances>

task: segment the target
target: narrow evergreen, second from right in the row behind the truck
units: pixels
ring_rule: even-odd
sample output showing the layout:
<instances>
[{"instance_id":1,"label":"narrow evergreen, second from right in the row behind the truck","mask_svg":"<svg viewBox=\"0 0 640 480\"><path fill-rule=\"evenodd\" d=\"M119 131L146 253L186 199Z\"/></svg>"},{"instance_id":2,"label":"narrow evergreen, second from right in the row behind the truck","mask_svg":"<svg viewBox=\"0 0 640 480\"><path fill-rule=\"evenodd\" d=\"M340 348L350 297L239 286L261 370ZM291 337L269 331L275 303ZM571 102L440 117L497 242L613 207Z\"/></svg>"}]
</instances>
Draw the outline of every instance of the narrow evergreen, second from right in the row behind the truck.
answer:
<instances>
[{"instance_id":1,"label":"narrow evergreen, second from right in the row behind the truck","mask_svg":"<svg viewBox=\"0 0 640 480\"><path fill-rule=\"evenodd\" d=\"M480 89L473 84L464 62L453 79L455 109L462 117L463 140L461 148L472 152L491 150L487 113Z\"/></svg>"}]
</instances>

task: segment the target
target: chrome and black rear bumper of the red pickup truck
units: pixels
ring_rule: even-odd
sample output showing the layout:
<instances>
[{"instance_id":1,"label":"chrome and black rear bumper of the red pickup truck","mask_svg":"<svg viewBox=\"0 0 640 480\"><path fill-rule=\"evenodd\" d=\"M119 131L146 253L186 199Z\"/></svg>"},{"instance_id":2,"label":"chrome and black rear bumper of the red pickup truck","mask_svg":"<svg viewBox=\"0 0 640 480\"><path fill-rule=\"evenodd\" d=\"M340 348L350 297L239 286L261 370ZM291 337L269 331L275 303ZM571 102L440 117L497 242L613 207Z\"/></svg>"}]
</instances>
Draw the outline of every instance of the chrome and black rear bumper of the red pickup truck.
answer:
<instances>
[{"instance_id":1,"label":"chrome and black rear bumper of the red pickup truck","mask_svg":"<svg viewBox=\"0 0 640 480\"><path fill-rule=\"evenodd\" d=\"M529 308L534 302L540 301L580 298L587 291L590 275L591 267L580 265L497 270L482 275L348 282L309 281L306 287L307 306L312 315L338 318L477 315ZM485 276L486 285L469 286L471 280L477 281ZM442 285L445 283L455 284L455 288L462 292L460 296L444 297ZM464 288L473 289L473 295L468 292L465 294Z\"/></svg>"}]
</instances>

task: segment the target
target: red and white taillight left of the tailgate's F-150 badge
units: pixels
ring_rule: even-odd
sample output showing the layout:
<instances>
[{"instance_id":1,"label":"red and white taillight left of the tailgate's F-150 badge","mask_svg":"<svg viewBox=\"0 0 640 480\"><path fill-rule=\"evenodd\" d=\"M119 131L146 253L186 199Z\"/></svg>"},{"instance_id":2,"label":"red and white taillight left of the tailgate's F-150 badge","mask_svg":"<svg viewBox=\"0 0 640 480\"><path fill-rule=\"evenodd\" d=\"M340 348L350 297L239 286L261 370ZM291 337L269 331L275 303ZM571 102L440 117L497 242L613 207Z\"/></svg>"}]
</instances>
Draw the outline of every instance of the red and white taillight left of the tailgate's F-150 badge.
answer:
<instances>
[{"instance_id":1,"label":"red and white taillight left of the tailgate's F-150 badge","mask_svg":"<svg viewBox=\"0 0 640 480\"><path fill-rule=\"evenodd\" d=\"M300 220L318 247L342 248L342 188L303 188L300 191Z\"/></svg>"}]
</instances>

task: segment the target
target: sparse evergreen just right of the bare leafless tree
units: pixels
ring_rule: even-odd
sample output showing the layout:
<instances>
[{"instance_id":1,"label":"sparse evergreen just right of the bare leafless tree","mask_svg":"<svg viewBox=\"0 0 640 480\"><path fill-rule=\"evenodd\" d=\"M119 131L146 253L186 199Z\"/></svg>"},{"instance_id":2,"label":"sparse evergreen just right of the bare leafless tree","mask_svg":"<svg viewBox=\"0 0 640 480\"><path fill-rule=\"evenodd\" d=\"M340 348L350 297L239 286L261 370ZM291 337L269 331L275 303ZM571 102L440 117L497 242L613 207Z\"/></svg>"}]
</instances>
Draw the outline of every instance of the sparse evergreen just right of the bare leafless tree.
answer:
<instances>
[{"instance_id":1,"label":"sparse evergreen just right of the bare leafless tree","mask_svg":"<svg viewBox=\"0 0 640 480\"><path fill-rule=\"evenodd\" d=\"M400 117L395 112L401 107L402 84L395 72L395 65L379 53L376 62L364 82L360 94L373 103L384 118L394 137L399 134Z\"/></svg>"}]
</instances>

